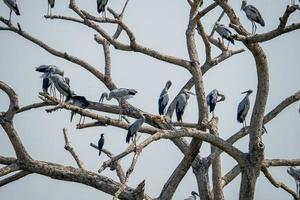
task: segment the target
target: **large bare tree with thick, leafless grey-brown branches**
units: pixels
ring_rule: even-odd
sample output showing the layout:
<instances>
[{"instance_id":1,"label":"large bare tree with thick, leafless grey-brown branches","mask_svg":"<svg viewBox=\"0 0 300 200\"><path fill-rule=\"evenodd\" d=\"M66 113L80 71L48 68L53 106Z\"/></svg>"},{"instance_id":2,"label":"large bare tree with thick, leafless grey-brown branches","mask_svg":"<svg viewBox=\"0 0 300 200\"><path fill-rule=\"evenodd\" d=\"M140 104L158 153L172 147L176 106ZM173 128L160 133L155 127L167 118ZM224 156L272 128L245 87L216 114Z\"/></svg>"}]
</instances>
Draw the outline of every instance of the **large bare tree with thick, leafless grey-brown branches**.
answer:
<instances>
[{"instance_id":1,"label":"large bare tree with thick, leafless grey-brown branches","mask_svg":"<svg viewBox=\"0 0 300 200\"><path fill-rule=\"evenodd\" d=\"M2 25L1 31L8 31L18 34L25 40L41 47L49 54L56 57L65 59L71 63L79 65L92 75L94 75L101 83L103 83L109 90L118 88L111 77L111 57L110 46L115 50L125 52L136 52L149 56L153 59L162 62L173 64L176 67L182 67L191 74L191 79L182 86L179 94L184 90L190 90L195 87L197 105L198 105L198 123L177 123L171 122L172 114L175 109L177 97L170 103L165 117L159 117L156 114L147 113L142 108L137 108L128 102L121 104L121 112L123 116L131 118L139 118L143 114L146 118L145 123L139 132L148 134L149 137L139 142L137 140L132 143L128 148L117 154L113 155L109 150L103 149L103 152L109 159L99 166L98 172L89 171L77 155L75 149L71 146L67 130L63 129L65 149L70 152L72 157L77 163L77 167L64 166L57 163L50 163L34 159L26 150L18 133L14 127L14 117L22 112L30 112L31 109L42 108L51 106L47 109L48 112L56 111L57 109L66 109L79 113L82 116L88 117L94 122L78 125L78 129L84 129L95 126L114 126L120 129L128 129L129 123L115 120L107 116L99 114L98 111L119 115L120 109L117 106L102 104L98 102L90 102L89 110L81 109L75 105L66 102L60 102L58 99L51 97L45 93L40 93L41 102L33 103L28 106L20 107L19 97L6 83L0 81L0 89L4 91L10 99L10 104L7 111L0 113L0 123L5 130L10 142L15 150L16 157L0 156L0 164L4 165L0 169L0 176L7 177L0 180L0 186L4 186L13 181L19 180L30 174L40 174L48 176L53 179L77 182L99 191L105 192L113 196L113 199L172 199L178 185L181 183L187 171L192 167L195 178L198 184L198 192L201 199L224 199L223 189L226 185L230 184L239 174L241 174L240 194L241 200L254 199L257 178L263 172L265 177L272 185L277 188L282 188L288 192L295 200L299 199L297 194L287 187L284 183L275 180L268 168L272 166L299 166L300 159L286 160L286 159L265 159L264 149L265 145L262 141L262 134L264 124L273 120L282 110L287 108L294 102L299 101L300 91L292 94L290 97L284 99L278 106L271 112L265 113L265 107L269 96L269 70L268 58L261 47L261 43L273 40L276 37L296 31L300 28L300 23L293 23L288 25L289 17L299 9L298 5L287 6L283 15L279 18L278 27L262 34L250 34L240 22L235 10L230 6L226 0L214 0L213 3L207 7L200 7L202 0L187 0L190 5L189 21L186 28L186 47L189 59L181 59L178 57L165 55L157 50L148 48L138 43L136 36L130 27L123 21L124 11L129 0L126 1L124 8L120 14L116 13L113 9L108 8L108 11L114 18L96 17L88 11L82 10L78 7L75 0L70 0L69 8L76 13L76 17L64 15L46 15L45 18L52 20L64 20L70 23L78 23L82 26L88 27L96 32L94 40L103 47L105 57L105 70L99 71L95 66L92 66L85 60L75 57L70 53L59 51L52 48L42 40L33 37L30 33L24 30L18 23L14 25L8 19L0 16ZM236 41L241 42L245 49L231 50L224 45L221 40L216 39L214 30L208 34L208 30L203 26L203 17L208 13L215 12L219 7L222 9L218 21L223 17L230 20L230 27L233 28L236 34L233 36ZM103 24L116 25L117 30L114 34L109 34L102 27ZM119 40L121 33L126 34L129 43ZM205 45L205 56L199 57L199 52L195 42L195 36L199 34L202 42ZM219 49L221 53L216 57L212 54L212 48ZM224 60L231 58L234 55L249 51L256 64L257 69L257 93L254 103L250 125L233 133L227 140L219 137L218 131L218 117L209 119L208 109L206 102L206 95L204 92L203 76L206 72L218 66ZM183 126L184 128L176 128ZM242 152L234 146L234 143L241 138L249 136L249 150ZM186 137L192 138L190 143L185 139ZM183 159L168 178L158 197L150 197L145 192L144 180L137 187L130 187L128 180L134 170L135 164L138 162L139 155L142 150L152 142L161 139L168 139L172 141L184 154ZM200 150L203 142L211 144L211 154L207 157L200 156ZM91 146L97 149L97 145L91 143ZM225 152L232 157L237 165L232 168L228 173L222 174L221 172L221 159L220 155ZM129 154L134 154L129 169L125 172L120 164L120 160ZM101 175L101 172L107 168L115 170L119 181ZM212 169L212 183L210 183L208 170ZM99 174L100 173L100 174ZM212 188L211 188L212 185Z\"/></svg>"}]
</instances>

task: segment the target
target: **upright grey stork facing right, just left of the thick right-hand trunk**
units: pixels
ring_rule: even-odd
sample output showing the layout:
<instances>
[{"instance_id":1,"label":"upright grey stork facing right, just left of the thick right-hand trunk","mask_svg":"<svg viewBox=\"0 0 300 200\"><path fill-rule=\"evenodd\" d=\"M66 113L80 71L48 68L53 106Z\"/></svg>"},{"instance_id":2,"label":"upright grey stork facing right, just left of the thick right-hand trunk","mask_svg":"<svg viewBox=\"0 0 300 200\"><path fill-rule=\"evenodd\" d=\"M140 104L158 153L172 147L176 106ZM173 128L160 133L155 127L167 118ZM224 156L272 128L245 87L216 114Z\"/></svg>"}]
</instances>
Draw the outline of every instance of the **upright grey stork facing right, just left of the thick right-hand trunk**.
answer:
<instances>
[{"instance_id":1,"label":"upright grey stork facing right, just left of the thick right-hand trunk","mask_svg":"<svg viewBox=\"0 0 300 200\"><path fill-rule=\"evenodd\" d=\"M249 108L250 108L250 101L249 101L249 95L252 93L252 90L247 90L245 92L242 92L242 94L246 94L244 99L239 103L238 110L237 110L237 120L240 123L243 123L243 128L247 126L246 123L246 116L248 114ZM244 123L245 122L245 123Z\"/></svg>"}]
</instances>

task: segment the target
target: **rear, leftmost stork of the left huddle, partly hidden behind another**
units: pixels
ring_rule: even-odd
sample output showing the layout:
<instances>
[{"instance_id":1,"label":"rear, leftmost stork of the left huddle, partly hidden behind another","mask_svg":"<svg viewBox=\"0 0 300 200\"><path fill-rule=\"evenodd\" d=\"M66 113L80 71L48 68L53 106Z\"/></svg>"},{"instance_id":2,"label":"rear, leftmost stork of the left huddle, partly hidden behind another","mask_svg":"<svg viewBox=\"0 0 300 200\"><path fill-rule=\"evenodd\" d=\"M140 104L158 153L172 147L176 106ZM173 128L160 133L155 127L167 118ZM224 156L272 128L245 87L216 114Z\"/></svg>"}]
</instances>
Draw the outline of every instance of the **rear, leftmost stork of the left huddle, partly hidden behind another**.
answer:
<instances>
[{"instance_id":1,"label":"rear, leftmost stork of the left huddle, partly hidden behind another","mask_svg":"<svg viewBox=\"0 0 300 200\"><path fill-rule=\"evenodd\" d=\"M55 65L41 65L41 66L37 67L35 69L35 71L43 73L43 75L41 76L41 78L43 79L43 86L42 86L43 92L48 93L48 88L50 87L50 93L52 90L53 94L55 94L54 89L52 88L52 83L49 80L49 78L47 77L50 72L50 69L52 70L52 72L54 74L59 74L61 76L64 76L64 71L59 69ZM65 79L66 79L67 83L69 82L68 85L70 85L70 80L68 80L68 78L65 78Z\"/></svg>"}]
</instances>

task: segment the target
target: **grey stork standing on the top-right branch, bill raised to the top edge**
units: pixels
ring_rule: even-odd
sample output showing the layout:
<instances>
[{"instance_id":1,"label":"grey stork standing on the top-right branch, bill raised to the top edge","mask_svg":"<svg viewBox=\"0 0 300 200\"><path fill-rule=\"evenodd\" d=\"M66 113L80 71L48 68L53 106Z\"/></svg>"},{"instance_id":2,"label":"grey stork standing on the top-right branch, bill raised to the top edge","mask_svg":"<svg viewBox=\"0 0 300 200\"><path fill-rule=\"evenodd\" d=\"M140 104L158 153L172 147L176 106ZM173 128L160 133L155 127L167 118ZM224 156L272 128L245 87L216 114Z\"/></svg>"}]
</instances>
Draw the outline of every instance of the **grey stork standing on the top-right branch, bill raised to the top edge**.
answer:
<instances>
[{"instance_id":1,"label":"grey stork standing on the top-right branch, bill raised to the top edge","mask_svg":"<svg viewBox=\"0 0 300 200\"><path fill-rule=\"evenodd\" d=\"M243 0L241 10L246 13L247 18L252 22L252 34L256 33L256 24L259 23L261 26L265 26L265 21L262 18L257 8L252 5L247 5L247 1Z\"/></svg>"}]
</instances>

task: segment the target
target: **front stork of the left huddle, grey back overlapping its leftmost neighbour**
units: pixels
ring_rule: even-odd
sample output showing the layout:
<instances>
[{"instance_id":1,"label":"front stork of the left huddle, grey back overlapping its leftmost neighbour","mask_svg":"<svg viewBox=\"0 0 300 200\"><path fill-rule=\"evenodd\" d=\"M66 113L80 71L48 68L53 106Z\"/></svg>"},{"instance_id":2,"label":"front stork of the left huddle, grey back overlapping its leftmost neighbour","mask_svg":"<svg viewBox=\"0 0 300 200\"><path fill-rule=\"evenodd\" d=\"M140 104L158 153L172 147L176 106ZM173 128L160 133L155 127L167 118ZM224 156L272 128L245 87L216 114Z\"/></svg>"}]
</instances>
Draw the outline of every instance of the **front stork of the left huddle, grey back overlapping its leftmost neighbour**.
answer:
<instances>
[{"instance_id":1,"label":"front stork of the left huddle, grey back overlapping its leftmost neighbour","mask_svg":"<svg viewBox=\"0 0 300 200\"><path fill-rule=\"evenodd\" d=\"M66 97L65 102L71 100L72 91L63 76L55 74L54 69L51 68L47 75L47 78L49 78L49 80L54 84L59 93Z\"/></svg>"}]
</instances>

